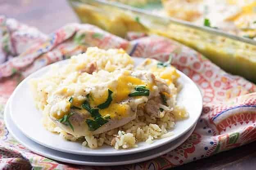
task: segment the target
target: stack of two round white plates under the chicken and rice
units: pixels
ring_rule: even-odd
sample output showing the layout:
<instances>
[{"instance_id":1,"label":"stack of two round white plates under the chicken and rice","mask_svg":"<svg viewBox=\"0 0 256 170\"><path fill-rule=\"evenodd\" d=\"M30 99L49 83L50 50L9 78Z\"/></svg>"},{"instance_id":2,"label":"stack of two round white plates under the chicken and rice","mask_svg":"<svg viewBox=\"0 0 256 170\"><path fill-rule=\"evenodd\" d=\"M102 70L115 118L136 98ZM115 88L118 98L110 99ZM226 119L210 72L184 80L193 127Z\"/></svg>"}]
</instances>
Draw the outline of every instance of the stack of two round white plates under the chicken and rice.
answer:
<instances>
[{"instance_id":1,"label":"stack of two round white plates under the chicken and rice","mask_svg":"<svg viewBox=\"0 0 256 170\"><path fill-rule=\"evenodd\" d=\"M135 58L136 64L143 59ZM67 60L57 64L65 64ZM182 144L193 132L202 111L199 89L186 75L179 72L178 82L183 86L177 103L185 106L189 118L177 121L171 137L155 140L153 144L138 143L137 148L115 150L111 146L90 149L79 142L66 141L58 134L45 130L41 113L36 110L29 89L29 79L40 77L50 69L46 66L23 80L7 102L5 124L17 141L33 152L66 163L91 166L114 166L146 161L159 157ZM139 154L138 154L139 153ZM110 157L111 156L111 157Z\"/></svg>"}]
</instances>

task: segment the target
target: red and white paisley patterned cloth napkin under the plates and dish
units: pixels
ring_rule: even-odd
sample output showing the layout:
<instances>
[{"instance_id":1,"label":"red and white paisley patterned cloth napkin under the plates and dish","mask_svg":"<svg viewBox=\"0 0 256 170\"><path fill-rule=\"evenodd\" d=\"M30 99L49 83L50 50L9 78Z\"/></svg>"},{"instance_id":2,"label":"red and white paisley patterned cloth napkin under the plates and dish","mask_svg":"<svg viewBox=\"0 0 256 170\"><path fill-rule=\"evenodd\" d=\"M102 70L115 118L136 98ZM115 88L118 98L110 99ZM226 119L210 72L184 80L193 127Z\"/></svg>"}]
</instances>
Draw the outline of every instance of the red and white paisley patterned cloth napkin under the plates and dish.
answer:
<instances>
[{"instance_id":1,"label":"red and white paisley patterned cloth napkin under the plates and dish","mask_svg":"<svg viewBox=\"0 0 256 170\"><path fill-rule=\"evenodd\" d=\"M200 88L204 108L195 131L177 149L156 159L115 167L75 166L36 155L20 145L5 127L3 110L18 83L30 73L89 46L122 48L131 56L167 60ZM230 75L202 54L156 35L128 33L122 39L89 24L68 24L45 35L0 16L0 168L34 170L163 170L209 157L256 140L256 86ZM22 113L21 113L22 114Z\"/></svg>"}]
</instances>

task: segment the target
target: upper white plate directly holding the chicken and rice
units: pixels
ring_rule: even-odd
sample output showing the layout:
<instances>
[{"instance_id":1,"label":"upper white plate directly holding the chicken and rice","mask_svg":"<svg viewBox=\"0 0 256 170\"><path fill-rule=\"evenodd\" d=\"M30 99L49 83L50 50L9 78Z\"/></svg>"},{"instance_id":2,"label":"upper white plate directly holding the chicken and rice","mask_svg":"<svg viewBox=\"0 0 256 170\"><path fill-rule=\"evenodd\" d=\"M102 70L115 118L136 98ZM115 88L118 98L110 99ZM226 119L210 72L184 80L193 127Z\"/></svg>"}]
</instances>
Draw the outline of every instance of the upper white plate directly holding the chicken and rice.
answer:
<instances>
[{"instance_id":1,"label":"upper white plate directly holding the chicken and rice","mask_svg":"<svg viewBox=\"0 0 256 170\"><path fill-rule=\"evenodd\" d=\"M138 64L143 61L141 58L134 58L135 63ZM65 64L68 60L58 62L58 64ZM98 149L90 149L82 146L79 142L66 141L59 135L45 130L41 124L41 113L36 110L34 106L34 100L32 93L29 89L29 80L32 78L40 77L50 69L50 66L41 68L32 75L29 75L21 82L13 93L13 97L10 100L10 113L11 118L17 125L17 127L30 139L37 143L46 146L51 149L59 150L62 152L68 152L79 155L93 155L93 156L106 156L106 155L126 155L136 152L142 152L157 148L164 144L168 144L171 141L181 137L188 130L193 127L193 124L197 122L202 111L202 96L194 84L194 82L188 78L184 73L178 71L181 75L178 82L182 84L183 88L178 95L177 103L181 106L185 106L189 113L189 118L183 121L178 121L172 132L174 135L168 138L155 140L153 144L146 144L145 142L138 143L137 148L131 148L127 150L115 150L110 146L102 146Z\"/></svg>"}]
</instances>

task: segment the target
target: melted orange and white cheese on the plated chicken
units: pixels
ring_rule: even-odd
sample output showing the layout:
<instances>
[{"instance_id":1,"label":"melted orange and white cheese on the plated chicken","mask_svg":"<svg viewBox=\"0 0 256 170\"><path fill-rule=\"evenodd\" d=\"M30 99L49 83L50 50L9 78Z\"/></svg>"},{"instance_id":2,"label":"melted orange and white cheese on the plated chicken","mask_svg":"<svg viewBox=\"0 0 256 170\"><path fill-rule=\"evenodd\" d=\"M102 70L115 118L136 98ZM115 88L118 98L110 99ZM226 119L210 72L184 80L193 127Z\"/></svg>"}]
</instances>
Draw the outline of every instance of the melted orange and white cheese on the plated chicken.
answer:
<instances>
[{"instance_id":1,"label":"melted orange and white cheese on the plated chicken","mask_svg":"<svg viewBox=\"0 0 256 170\"><path fill-rule=\"evenodd\" d=\"M106 74L109 75L109 77L106 79L106 82L102 82L102 75L106 72L100 71L98 73L94 73L94 75L89 74L81 74L82 76L79 81L83 84L86 84L86 86L79 86L80 88L85 88L85 90L78 90L80 93L67 96L63 98L59 103L63 103L59 108L65 108L63 110L65 111L59 111L56 110L52 113L52 117L55 117L56 119L62 118L64 115L70 113L70 108L72 106L75 106L77 108L82 108L82 104L85 100L87 100L91 106L91 108L97 109L97 106L100 104L106 102L106 100L109 97L108 90L111 90L113 94L111 94L112 102L111 104L104 109L99 109L99 113L104 116L109 114L111 118L118 118L125 117L127 115L127 112L131 111L131 107L129 104L122 103L123 101L131 98L129 97L129 94L133 91L135 91L135 87L138 85L143 85L146 88L149 88L150 91L153 90L154 82L150 82L149 80L143 80L139 77L136 77L134 75L131 75L131 71L123 70L123 71L115 71L113 73L107 72ZM140 75L140 74L139 74ZM92 79L92 76L95 79ZM88 84L88 85L87 85ZM101 85L102 84L102 85ZM69 87L70 88L70 87ZM58 95L65 95L65 93L68 91L68 88L64 87L61 88L61 90L58 91ZM77 97L77 96L86 96L86 97ZM72 97L72 103L68 102L68 100ZM141 96L134 97L134 99L139 99ZM55 104L56 105L56 104ZM92 118L89 118L92 119Z\"/></svg>"}]
</instances>

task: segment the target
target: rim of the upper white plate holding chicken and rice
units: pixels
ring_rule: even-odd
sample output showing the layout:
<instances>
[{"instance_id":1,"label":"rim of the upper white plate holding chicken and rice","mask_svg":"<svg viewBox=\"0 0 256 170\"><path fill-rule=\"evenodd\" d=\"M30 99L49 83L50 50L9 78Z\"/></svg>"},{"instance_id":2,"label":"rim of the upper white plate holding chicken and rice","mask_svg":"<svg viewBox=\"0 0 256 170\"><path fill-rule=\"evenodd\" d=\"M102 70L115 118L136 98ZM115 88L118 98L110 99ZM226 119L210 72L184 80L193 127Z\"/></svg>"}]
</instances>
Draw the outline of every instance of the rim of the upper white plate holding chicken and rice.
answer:
<instances>
[{"instance_id":1,"label":"rim of the upper white plate holding chicken and rice","mask_svg":"<svg viewBox=\"0 0 256 170\"><path fill-rule=\"evenodd\" d=\"M134 58L135 60L145 60L145 58L141 58L141 57L132 57ZM36 72L30 74L28 77L26 77L25 79L23 79L22 82L20 82L20 84L18 84L18 86L15 88L14 92L12 93L12 96L16 95L16 93L18 93L19 89L23 86L23 84L25 84L27 82L28 79L31 79L31 77L33 77L34 75L38 74L38 73L41 73L43 70L46 70L46 69L49 69L51 66L55 65L55 64L64 64L66 62L68 62L70 59L67 59L67 60L61 60L59 62L55 62L55 63L52 63L52 64L49 64L47 66L44 66L42 68L40 68L39 70L37 70ZM170 143L171 141L174 141L176 139L178 139L179 137L181 137L182 135L184 135L186 132L188 132L195 123L197 123L201 113L202 113L202 107L203 107L203 99L202 99L202 94L201 94L201 91L199 90L199 88L197 87L197 85L192 81L192 79L190 79L187 75L185 75L184 73L182 73L181 71L179 71L177 69L177 72L182 75L182 77L186 78L190 84L193 84L193 86L195 86L195 89L197 90L197 93L200 94L200 113L197 115L197 118L195 119L195 122L193 122L192 124L190 124L190 126L184 130L183 132L177 134L176 137L173 137L172 139L170 140L167 140L167 141L164 141L160 144L156 144L156 145L151 145L149 147L145 147L145 148L140 148L140 149L136 149L136 150L132 150L131 149L127 149L127 150L122 150L122 151L113 151L114 153L112 152L94 152L93 150L92 151L80 151L80 150L69 150L69 149L63 149L61 147L54 147L54 146L51 146L49 144L46 144L42 141L39 141L37 139L34 139L33 137L29 136L24 130L23 128L20 128L19 124L15 121L14 119L14 114L13 114L13 109L11 107L11 103L13 103L13 100L14 100L14 97L11 97L10 98L10 102L9 102L9 105L10 105L10 116L11 116L11 119L16 123L16 126L19 128L19 130L21 132L23 132L23 134L28 137L29 139L31 139L32 141L35 141L36 143L40 144L40 145L43 145L47 148L51 148L53 150L58 150L58 151L61 151L61 152L66 152L66 153L71 153L71 154L77 154L77 155L91 155L91 156L113 156L113 155L128 155L128 154L134 154L134 153L139 153L139 152L144 152L146 150L151 150L151 149L154 149L154 148L157 148L157 147L160 147L160 146L163 146L165 144L168 144ZM46 73L46 72L45 72ZM44 74L45 74L44 73ZM34 106L35 107L35 106ZM37 109L36 109L37 110ZM38 112L40 112L38 110ZM100 148L99 148L100 149ZM99 150L97 149L97 150Z\"/></svg>"}]
</instances>

